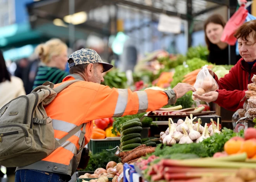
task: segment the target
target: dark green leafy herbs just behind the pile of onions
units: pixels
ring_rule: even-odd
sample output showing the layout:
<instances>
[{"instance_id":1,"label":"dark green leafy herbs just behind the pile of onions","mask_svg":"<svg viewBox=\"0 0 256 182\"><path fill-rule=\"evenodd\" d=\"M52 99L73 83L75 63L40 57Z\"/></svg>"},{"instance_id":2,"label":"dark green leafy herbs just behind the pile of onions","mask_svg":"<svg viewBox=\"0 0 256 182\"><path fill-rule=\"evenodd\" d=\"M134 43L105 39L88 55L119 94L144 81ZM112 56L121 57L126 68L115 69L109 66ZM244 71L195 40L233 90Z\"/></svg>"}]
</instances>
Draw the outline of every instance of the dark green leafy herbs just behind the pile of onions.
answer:
<instances>
[{"instance_id":1,"label":"dark green leafy herbs just behind the pile of onions","mask_svg":"<svg viewBox=\"0 0 256 182\"><path fill-rule=\"evenodd\" d=\"M106 169L107 163L109 161L114 161L116 163L121 162L121 159L115 155L114 151L115 150L112 150L112 151L104 150L96 154L90 153L89 154L90 160L88 162L88 165L85 168L85 170L81 170L81 171L95 171L97 168L100 168L100 167Z\"/></svg>"}]
</instances>

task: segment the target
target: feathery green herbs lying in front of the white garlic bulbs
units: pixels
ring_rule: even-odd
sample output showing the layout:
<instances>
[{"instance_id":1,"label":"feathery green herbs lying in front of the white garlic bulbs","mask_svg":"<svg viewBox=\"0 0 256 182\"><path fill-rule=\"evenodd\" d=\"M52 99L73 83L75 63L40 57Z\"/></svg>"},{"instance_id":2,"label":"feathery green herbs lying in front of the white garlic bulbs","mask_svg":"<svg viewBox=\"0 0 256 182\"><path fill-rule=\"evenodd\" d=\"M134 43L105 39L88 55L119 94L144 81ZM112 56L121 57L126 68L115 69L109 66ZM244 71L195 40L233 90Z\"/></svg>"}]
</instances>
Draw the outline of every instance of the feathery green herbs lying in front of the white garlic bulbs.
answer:
<instances>
[{"instance_id":1,"label":"feathery green herbs lying in front of the white garlic bulbs","mask_svg":"<svg viewBox=\"0 0 256 182\"><path fill-rule=\"evenodd\" d=\"M150 155L156 156L167 156L176 153L182 154L195 154L199 157L211 157L216 152L223 151L224 144L234 136L243 136L244 131L239 133L234 133L234 131L224 128L222 129L222 134L214 134L213 136L204 139L201 143L191 143L191 144L175 144L170 146L157 146L156 151Z\"/></svg>"}]
</instances>

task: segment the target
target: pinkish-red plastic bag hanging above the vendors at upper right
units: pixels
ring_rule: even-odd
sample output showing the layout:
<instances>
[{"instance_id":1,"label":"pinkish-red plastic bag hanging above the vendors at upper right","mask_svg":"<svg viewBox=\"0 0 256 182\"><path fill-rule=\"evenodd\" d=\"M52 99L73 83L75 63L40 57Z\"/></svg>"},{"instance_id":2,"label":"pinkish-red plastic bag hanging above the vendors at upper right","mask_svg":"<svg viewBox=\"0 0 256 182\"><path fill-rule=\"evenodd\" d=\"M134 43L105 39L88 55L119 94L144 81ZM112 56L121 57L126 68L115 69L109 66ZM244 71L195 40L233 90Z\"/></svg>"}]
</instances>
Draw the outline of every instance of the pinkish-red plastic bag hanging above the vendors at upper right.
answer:
<instances>
[{"instance_id":1,"label":"pinkish-red plastic bag hanging above the vendors at upper right","mask_svg":"<svg viewBox=\"0 0 256 182\"><path fill-rule=\"evenodd\" d=\"M242 26L242 24L244 24L247 15L248 15L248 10L245 9L245 5L243 4L234 13L234 15L228 20L226 26L224 27L223 34L220 40L222 42L225 42L234 46L237 41L237 39L234 36L235 31L240 26Z\"/></svg>"}]
</instances>

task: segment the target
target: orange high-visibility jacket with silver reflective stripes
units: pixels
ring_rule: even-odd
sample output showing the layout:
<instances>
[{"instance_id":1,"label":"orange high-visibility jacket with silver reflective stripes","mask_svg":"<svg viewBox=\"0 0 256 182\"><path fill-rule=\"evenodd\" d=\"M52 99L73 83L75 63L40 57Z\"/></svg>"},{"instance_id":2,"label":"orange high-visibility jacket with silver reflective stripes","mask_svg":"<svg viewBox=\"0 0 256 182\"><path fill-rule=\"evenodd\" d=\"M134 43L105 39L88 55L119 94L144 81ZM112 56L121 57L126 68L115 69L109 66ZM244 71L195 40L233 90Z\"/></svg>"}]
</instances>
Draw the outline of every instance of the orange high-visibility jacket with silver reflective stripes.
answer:
<instances>
[{"instance_id":1,"label":"orange high-visibility jacket with silver reflective stripes","mask_svg":"<svg viewBox=\"0 0 256 182\"><path fill-rule=\"evenodd\" d=\"M69 75L63 82L74 80L74 77L81 78L79 75ZM52 118L55 139L62 138L76 126L86 123L86 144L92 136L92 120L154 111L170 104L171 99L174 104L174 97L169 99L160 90L131 92L130 89L111 89L98 83L81 81L59 93L45 110ZM78 144L80 134L81 131L73 135L43 160L17 170L26 168L73 175L81 157Z\"/></svg>"}]
</instances>

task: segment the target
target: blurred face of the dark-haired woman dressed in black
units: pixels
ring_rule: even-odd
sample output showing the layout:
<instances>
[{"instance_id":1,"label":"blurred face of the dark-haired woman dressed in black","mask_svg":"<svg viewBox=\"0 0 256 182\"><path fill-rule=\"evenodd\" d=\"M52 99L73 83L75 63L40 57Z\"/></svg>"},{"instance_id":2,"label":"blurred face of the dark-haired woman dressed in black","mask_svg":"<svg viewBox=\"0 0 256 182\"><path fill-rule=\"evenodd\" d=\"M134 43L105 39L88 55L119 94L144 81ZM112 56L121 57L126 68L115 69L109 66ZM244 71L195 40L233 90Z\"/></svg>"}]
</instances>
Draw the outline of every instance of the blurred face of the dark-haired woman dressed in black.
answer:
<instances>
[{"instance_id":1,"label":"blurred face of the dark-haired woman dressed in black","mask_svg":"<svg viewBox=\"0 0 256 182\"><path fill-rule=\"evenodd\" d=\"M220 24L209 23L206 26L205 33L209 41L218 44L223 33L223 27Z\"/></svg>"}]
</instances>

